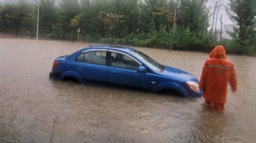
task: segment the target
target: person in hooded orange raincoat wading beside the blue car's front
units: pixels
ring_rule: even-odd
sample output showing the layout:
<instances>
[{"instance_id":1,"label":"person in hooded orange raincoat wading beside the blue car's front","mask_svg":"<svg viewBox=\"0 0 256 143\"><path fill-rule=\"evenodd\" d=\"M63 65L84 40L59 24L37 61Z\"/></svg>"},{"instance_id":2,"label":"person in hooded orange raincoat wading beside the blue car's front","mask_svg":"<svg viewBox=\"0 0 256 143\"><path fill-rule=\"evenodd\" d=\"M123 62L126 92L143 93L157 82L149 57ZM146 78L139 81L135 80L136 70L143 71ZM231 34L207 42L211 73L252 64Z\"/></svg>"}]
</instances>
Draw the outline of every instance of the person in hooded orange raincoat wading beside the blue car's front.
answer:
<instances>
[{"instance_id":1,"label":"person in hooded orange raincoat wading beside the blue car's front","mask_svg":"<svg viewBox=\"0 0 256 143\"><path fill-rule=\"evenodd\" d=\"M226 60L225 48L222 45L215 47L209 57L203 66L199 88L203 92L206 104L224 110L228 83L232 93L238 90L236 71L233 63Z\"/></svg>"}]
</instances>

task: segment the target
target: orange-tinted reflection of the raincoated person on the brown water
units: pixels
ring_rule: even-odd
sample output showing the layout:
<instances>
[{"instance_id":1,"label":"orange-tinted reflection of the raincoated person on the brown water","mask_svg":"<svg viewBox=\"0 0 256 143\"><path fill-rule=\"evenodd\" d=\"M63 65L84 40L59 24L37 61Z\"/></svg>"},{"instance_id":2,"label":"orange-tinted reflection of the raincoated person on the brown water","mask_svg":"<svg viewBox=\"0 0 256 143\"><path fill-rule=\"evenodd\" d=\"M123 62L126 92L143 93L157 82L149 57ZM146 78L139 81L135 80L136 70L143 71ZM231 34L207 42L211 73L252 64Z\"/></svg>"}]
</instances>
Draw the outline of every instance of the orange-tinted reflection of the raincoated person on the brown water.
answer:
<instances>
[{"instance_id":1,"label":"orange-tinted reflection of the raincoated person on the brown water","mask_svg":"<svg viewBox=\"0 0 256 143\"><path fill-rule=\"evenodd\" d=\"M238 134L230 131L233 123L232 117L227 113L203 107L197 112L195 121L181 132L176 142L230 142L233 134Z\"/></svg>"}]
</instances>

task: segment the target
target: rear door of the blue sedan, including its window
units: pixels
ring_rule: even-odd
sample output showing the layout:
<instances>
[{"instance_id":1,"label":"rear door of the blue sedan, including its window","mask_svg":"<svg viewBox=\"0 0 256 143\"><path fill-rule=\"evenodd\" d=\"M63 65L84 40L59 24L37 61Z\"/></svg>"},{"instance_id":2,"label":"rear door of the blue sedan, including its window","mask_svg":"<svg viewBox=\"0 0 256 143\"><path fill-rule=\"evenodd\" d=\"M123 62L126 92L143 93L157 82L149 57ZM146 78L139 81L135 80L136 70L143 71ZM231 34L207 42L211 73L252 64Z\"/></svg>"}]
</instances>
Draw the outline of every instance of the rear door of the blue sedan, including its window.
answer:
<instances>
[{"instance_id":1,"label":"rear door of the blue sedan, including its window","mask_svg":"<svg viewBox=\"0 0 256 143\"><path fill-rule=\"evenodd\" d=\"M78 54L75 59L75 72L84 82L108 83L107 50L92 50Z\"/></svg>"}]
</instances>

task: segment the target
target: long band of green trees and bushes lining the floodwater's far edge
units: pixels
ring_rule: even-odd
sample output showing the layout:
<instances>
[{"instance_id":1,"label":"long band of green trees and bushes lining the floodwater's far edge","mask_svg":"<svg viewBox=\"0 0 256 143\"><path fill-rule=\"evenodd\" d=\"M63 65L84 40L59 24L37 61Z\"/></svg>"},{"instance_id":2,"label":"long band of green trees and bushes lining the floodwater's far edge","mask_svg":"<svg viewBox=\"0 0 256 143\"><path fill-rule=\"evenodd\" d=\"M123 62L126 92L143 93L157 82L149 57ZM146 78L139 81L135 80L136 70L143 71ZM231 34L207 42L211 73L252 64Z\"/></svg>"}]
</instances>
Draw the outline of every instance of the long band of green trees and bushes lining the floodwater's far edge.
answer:
<instances>
[{"instance_id":1,"label":"long band of green trees and bushes lining the floodwater's far edge","mask_svg":"<svg viewBox=\"0 0 256 143\"><path fill-rule=\"evenodd\" d=\"M35 36L37 3L11 1L16 3L5 0L0 6L0 31ZM233 40L207 30L211 28L207 0L39 1L39 37L78 41L80 28L80 40L86 42L204 52L224 45L227 53L256 55L255 0L230 0L225 7L230 20L240 26L230 33Z\"/></svg>"}]
</instances>

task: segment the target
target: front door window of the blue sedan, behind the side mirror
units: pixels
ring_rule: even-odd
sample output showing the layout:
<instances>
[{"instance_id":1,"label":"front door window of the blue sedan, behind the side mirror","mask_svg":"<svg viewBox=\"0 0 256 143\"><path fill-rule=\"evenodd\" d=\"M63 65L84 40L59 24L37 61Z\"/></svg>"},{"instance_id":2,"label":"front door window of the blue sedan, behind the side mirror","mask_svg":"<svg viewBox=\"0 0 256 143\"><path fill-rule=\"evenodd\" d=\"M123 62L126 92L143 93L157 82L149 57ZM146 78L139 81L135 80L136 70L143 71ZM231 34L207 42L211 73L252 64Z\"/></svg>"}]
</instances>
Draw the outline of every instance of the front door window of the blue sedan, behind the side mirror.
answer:
<instances>
[{"instance_id":1,"label":"front door window of the blue sedan, behind the side mirror","mask_svg":"<svg viewBox=\"0 0 256 143\"><path fill-rule=\"evenodd\" d=\"M111 66L122 69L137 70L140 63L121 53L111 53Z\"/></svg>"}]
</instances>

